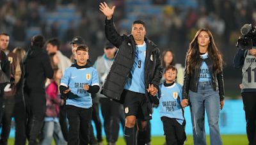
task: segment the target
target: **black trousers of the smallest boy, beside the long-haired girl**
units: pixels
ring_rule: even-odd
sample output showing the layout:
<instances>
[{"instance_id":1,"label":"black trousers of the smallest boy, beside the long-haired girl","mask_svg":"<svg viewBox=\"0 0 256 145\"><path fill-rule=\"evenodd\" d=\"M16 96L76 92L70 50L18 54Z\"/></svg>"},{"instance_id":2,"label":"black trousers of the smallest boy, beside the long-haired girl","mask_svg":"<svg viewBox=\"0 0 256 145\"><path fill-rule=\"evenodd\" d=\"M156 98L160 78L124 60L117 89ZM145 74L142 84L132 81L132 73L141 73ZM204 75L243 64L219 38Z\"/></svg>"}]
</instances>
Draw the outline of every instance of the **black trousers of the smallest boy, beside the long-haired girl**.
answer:
<instances>
[{"instance_id":1,"label":"black trousers of the smallest boy, beside the long-haired girl","mask_svg":"<svg viewBox=\"0 0 256 145\"><path fill-rule=\"evenodd\" d=\"M184 144L186 140L185 125L180 125L173 118L161 117L161 120L163 121L166 145Z\"/></svg>"}]
</instances>

